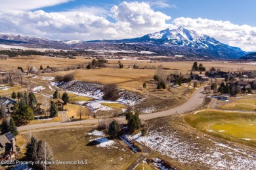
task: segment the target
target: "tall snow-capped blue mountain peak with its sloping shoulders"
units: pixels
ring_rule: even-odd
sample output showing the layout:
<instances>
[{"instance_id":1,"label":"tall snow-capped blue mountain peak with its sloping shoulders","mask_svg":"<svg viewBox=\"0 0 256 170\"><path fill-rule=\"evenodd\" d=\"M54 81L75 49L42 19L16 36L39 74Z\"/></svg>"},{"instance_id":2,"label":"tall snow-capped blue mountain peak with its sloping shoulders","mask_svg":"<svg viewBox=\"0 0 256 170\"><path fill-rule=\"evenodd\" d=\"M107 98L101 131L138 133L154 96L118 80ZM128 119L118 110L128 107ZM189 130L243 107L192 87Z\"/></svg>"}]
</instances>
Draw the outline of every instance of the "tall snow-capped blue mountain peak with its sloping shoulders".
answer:
<instances>
[{"instance_id":1,"label":"tall snow-capped blue mountain peak with its sloping shoulders","mask_svg":"<svg viewBox=\"0 0 256 170\"><path fill-rule=\"evenodd\" d=\"M181 54L206 58L236 59L247 54L240 48L228 46L207 35L200 36L196 31L184 27L164 29L135 39L87 41L83 42L83 46L95 46L95 43L104 46L105 49L109 49L110 46L116 47L115 44L122 44L122 48L125 50L142 48L166 56ZM81 44L77 45L81 46Z\"/></svg>"}]
</instances>

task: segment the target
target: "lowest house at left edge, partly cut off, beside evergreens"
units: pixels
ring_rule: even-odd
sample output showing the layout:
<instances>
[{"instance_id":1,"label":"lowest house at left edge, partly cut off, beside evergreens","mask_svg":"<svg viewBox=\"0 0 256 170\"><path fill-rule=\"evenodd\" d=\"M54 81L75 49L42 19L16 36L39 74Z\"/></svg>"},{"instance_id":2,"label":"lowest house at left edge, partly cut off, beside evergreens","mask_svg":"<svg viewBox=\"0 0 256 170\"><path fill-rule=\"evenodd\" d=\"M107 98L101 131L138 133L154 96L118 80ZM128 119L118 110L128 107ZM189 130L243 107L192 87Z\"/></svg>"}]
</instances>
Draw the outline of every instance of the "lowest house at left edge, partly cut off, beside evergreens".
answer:
<instances>
[{"instance_id":1,"label":"lowest house at left edge, partly cut off, beside evergreens","mask_svg":"<svg viewBox=\"0 0 256 170\"><path fill-rule=\"evenodd\" d=\"M16 154L16 139L11 132L0 135L0 155L2 158L11 158Z\"/></svg>"}]
</instances>

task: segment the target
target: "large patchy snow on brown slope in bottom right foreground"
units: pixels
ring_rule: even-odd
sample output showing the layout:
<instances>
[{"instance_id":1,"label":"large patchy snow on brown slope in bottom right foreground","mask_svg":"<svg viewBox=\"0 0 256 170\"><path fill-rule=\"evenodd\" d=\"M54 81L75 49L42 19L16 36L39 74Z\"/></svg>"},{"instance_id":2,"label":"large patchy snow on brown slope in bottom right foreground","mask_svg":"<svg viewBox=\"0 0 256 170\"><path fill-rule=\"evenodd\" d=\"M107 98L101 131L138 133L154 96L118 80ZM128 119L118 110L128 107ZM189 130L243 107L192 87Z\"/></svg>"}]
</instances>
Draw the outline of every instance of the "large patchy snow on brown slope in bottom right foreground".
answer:
<instances>
[{"instance_id":1,"label":"large patchy snow on brown slope in bottom right foreground","mask_svg":"<svg viewBox=\"0 0 256 170\"><path fill-rule=\"evenodd\" d=\"M211 169L254 169L256 157L251 150L234 148L223 143L212 141L211 147L204 150L198 144L182 139L173 132L165 135L161 129L150 131L147 136L133 136L136 141L144 143L153 150L179 160L182 163L202 163Z\"/></svg>"}]
</instances>

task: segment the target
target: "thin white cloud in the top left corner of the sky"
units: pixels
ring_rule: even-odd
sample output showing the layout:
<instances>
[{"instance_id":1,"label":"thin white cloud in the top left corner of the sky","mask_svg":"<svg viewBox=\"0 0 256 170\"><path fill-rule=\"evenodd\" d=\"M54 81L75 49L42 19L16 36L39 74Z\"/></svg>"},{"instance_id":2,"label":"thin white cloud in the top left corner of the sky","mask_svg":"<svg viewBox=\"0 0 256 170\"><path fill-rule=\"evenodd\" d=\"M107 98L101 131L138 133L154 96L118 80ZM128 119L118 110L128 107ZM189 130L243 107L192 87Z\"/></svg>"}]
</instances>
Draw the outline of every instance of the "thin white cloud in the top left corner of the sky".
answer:
<instances>
[{"instance_id":1,"label":"thin white cloud in the top left corner of the sky","mask_svg":"<svg viewBox=\"0 0 256 170\"><path fill-rule=\"evenodd\" d=\"M22 12L51 7L73 0L1 0L0 13Z\"/></svg>"}]
</instances>

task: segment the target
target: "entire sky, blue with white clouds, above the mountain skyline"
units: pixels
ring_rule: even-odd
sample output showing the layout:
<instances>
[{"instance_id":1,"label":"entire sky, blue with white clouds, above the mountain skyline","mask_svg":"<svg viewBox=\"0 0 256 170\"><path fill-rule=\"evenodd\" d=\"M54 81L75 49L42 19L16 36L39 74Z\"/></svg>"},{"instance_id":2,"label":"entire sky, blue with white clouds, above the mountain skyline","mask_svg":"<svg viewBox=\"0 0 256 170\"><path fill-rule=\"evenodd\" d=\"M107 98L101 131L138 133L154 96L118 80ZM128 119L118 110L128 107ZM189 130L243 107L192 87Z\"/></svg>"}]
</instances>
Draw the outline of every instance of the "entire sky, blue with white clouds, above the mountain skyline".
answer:
<instances>
[{"instance_id":1,"label":"entire sky, blue with white clouds, above the mountain skyline","mask_svg":"<svg viewBox=\"0 0 256 170\"><path fill-rule=\"evenodd\" d=\"M0 32L54 40L125 39L179 26L256 50L255 0L1 0Z\"/></svg>"}]
</instances>

